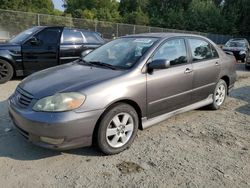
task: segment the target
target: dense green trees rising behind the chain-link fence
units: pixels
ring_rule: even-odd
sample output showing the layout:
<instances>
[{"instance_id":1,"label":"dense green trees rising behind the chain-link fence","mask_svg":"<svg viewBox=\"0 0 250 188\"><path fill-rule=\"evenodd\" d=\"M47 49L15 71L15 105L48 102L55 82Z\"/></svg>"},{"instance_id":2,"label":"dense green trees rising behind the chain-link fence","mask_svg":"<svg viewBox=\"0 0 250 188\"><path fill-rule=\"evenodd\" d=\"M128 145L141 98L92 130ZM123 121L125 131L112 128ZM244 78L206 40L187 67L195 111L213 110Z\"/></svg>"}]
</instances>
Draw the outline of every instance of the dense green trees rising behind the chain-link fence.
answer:
<instances>
[{"instance_id":1,"label":"dense green trees rising behind the chain-link fence","mask_svg":"<svg viewBox=\"0 0 250 188\"><path fill-rule=\"evenodd\" d=\"M171 29L195 30L230 35L250 35L250 0L61 0L65 12L54 10L52 0L0 0L0 9L20 10L53 15L53 24L81 26L84 18L110 22L150 25ZM8 25L7 13L1 13L2 27ZM14 14L14 13L13 13ZM21 20L18 27L26 28L37 23L36 15L23 19L20 13L8 15ZM72 16L72 19L71 19ZM20 18L19 18L20 17ZM50 24L51 16L42 15L41 24ZM67 21L66 21L67 20ZM65 23L63 23L65 21ZM95 28L94 22L85 21L84 27ZM116 30L114 24L102 27ZM21 26L22 25L22 26ZM108 25L108 24L107 24ZM14 26L12 26L14 27ZM17 26L16 26L17 27ZM13 31L15 29L13 28Z\"/></svg>"}]
</instances>

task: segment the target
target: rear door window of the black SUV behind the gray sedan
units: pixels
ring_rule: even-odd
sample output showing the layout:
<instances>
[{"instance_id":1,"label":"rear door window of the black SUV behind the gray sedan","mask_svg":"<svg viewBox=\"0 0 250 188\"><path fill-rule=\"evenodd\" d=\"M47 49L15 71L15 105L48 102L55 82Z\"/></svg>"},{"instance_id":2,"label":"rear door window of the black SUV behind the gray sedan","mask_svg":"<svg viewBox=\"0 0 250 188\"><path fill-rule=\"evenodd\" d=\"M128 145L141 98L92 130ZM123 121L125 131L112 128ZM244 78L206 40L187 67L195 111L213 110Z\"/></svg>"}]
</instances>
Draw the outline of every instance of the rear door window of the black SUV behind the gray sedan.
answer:
<instances>
[{"instance_id":1,"label":"rear door window of the black SUV behind the gray sedan","mask_svg":"<svg viewBox=\"0 0 250 188\"><path fill-rule=\"evenodd\" d=\"M73 29L64 29L62 33L61 43L63 44L82 44L83 36L80 31Z\"/></svg>"}]
</instances>

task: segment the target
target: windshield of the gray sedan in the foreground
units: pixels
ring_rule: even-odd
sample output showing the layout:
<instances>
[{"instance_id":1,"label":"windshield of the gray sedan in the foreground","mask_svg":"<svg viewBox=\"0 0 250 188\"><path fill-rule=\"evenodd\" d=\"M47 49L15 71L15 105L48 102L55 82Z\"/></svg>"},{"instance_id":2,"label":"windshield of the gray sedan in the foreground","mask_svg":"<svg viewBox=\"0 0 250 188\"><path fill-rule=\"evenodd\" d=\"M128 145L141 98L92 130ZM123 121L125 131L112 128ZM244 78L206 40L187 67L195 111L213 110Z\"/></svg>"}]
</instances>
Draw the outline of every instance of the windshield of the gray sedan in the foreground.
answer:
<instances>
[{"instance_id":1,"label":"windshield of the gray sedan in the foreground","mask_svg":"<svg viewBox=\"0 0 250 188\"><path fill-rule=\"evenodd\" d=\"M101 62L129 69L153 46L157 38L120 38L113 40L83 58L85 62Z\"/></svg>"}]
</instances>

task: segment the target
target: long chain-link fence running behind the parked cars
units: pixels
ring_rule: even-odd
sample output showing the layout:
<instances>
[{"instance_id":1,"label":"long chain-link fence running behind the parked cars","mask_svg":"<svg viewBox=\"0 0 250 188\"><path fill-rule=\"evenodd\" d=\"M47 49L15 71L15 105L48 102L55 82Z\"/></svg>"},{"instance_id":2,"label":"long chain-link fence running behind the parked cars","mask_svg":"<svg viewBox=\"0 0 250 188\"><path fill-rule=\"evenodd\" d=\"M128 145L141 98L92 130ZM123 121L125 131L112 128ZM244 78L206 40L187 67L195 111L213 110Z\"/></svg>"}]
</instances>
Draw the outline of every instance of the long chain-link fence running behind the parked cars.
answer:
<instances>
[{"instance_id":1,"label":"long chain-link fence running behind the parked cars","mask_svg":"<svg viewBox=\"0 0 250 188\"><path fill-rule=\"evenodd\" d=\"M230 35L219 35L211 33L201 33L195 31L184 31L176 29L167 29L160 27L149 27L141 25L131 25L122 23L112 23L106 21L78 19L63 16L54 16L46 14L36 14L19 11L9 11L0 9L0 41L6 36L12 37L21 31L37 25L46 26L66 26L69 28L79 28L99 32L106 39L112 39L130 34L149 33L149 32L175 32L203 35L217 44L224 44L233 38ZM5 33L5 36L2 36ZM7 33L7 34L6 34ZM248 38L249 39L249 38Z\"/></svg>"}]
</instances>

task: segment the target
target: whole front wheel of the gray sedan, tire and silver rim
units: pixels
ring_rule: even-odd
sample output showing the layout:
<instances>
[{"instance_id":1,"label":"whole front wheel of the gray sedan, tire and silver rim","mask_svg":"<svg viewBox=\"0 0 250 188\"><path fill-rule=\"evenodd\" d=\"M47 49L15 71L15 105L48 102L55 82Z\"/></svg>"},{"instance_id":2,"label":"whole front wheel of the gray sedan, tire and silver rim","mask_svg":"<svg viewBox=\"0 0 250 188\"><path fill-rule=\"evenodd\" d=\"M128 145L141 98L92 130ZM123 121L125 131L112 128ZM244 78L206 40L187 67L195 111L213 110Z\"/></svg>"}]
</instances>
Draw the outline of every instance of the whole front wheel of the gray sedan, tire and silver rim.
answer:
<instances>
[{"instance_id":1,"label":"whole front wheel of the gray sedan, tire and silver rim","mask_svg":"<svg viewBox=\"0 0 250 188\"><path fill-rule=\"evenodd\" d=\"M107 155L128 149L136 137L139 125L135 109L124 103L117 103L107 110L99 122L95 142Z\"/></svg>"}]
</instances>

